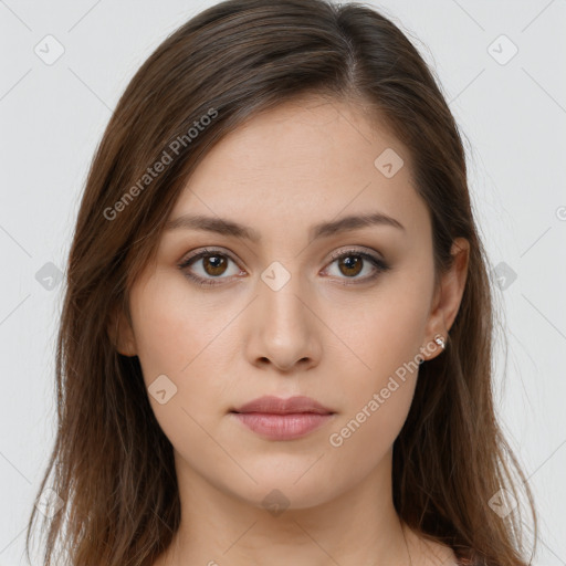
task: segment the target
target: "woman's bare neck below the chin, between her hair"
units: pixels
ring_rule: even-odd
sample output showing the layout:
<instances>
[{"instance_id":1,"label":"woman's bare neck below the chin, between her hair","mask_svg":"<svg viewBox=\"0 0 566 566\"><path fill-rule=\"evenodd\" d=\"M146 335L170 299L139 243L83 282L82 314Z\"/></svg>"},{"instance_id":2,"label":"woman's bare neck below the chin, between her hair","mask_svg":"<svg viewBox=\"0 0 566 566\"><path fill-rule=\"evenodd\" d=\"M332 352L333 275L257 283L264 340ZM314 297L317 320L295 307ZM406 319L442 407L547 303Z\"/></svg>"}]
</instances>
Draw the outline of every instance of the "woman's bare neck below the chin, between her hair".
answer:
<instances>
[{"instance_id":1,"label":"woman's bare neck below the chin, between her hair","mask_svg":"<svg viewBox=\"0 0 566 566\"><path fill-rule=\"evenodd\" d=\"M300 499L281 500L271 512L206 482L178 454L176 462L181 523L160 566L411 564L410 538L392 504L390 458L333 499L304 509Z\"/></svg>"}]
</instances>

